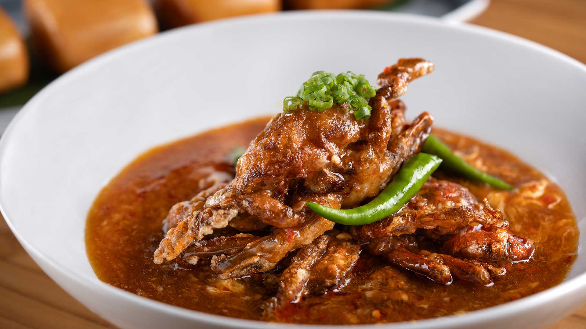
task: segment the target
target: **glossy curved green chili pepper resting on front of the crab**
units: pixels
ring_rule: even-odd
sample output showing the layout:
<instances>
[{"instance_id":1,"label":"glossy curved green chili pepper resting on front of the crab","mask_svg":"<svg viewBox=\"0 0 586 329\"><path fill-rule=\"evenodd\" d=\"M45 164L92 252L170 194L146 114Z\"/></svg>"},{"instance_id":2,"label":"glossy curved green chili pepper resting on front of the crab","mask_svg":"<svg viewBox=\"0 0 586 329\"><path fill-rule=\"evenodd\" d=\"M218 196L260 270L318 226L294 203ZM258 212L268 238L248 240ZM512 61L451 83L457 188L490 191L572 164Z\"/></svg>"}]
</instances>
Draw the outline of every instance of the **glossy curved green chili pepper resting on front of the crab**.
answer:
<instances>
[{"instance_id":1,"label":"glossy curved green chili pepper resting on front of the crab","mask_svg":"<svg viewBox=\"0 0 586 329\"><path fill-rule=\"evenodd\" d=\"M393 181L376 198L360 207L335 209L313 202L308 202L307 206L321 217L339 224L364 225L376 222L403 207L421 189L441 161L435 155L417 153L407 160Z\"/></svg>"}]
</instances>

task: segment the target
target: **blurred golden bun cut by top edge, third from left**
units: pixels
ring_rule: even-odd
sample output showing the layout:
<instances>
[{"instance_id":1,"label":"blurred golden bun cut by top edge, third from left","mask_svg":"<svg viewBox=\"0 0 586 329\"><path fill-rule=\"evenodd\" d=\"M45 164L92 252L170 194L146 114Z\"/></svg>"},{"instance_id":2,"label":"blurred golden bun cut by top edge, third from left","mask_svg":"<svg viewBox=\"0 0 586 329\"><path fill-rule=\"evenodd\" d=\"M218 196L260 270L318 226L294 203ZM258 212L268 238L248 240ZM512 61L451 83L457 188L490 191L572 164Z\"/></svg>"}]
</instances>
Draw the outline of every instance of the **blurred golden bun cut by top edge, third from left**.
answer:
<instances>
[{"instance_id":1,"label":"blurred golden bun cut by top edge, third from left","mask_svg":"<svg viewBox=\"0 0 586 329\"><path fill-rule=\"evenodd\" d=\"M155 0L161 22L168 28L205 20L281 10L280 0Z\"/></svg>"}]
</instances>

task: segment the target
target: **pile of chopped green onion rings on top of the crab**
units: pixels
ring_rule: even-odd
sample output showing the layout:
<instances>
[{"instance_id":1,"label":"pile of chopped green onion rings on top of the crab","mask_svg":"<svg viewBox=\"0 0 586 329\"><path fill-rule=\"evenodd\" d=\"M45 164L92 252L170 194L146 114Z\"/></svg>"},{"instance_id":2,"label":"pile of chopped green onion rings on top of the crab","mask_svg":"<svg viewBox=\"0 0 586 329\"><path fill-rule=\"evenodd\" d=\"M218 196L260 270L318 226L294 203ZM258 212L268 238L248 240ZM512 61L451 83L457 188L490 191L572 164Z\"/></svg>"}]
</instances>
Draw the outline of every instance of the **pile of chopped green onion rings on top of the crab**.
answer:
<instances>
[{"instance_id":1,"label":"pile of chopped green onion rings on top of the crab","mask_svg":"<svg viewBox=\"0 0 586 329\"><path fill-rule=\"evenodd\" d=\"M326 71L315 71L301 84L297 97L285 97L283 110L291 113L307 106L310 111L323 112L334 105L342 107L340 105L347 104L357 120L368 119L371 108L367 98L375 94L376 88L362 74L347 71L335 76Z\"/></svg>"}]
</instances>

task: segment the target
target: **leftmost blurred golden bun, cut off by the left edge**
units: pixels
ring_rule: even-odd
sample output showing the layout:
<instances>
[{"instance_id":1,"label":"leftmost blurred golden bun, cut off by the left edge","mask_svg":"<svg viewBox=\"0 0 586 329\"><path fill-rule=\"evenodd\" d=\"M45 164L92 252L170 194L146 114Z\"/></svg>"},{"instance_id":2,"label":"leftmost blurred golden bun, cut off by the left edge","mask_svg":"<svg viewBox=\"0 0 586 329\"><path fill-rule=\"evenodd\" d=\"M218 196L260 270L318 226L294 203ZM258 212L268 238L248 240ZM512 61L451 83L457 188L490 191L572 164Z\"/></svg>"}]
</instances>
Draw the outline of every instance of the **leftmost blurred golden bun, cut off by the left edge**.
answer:
<instances>
[{"instance_id":1,"label":"leftmost blurred golden bun, cut off by the left edge","mask_svg":"<svg viewBox=\"0 0 586 329\"><path fill-rule=\"evenodd\" d=\"M29 77L29 58L18 29L0 8L0 92L19 87Z\"/></svg>"}]
</instances>

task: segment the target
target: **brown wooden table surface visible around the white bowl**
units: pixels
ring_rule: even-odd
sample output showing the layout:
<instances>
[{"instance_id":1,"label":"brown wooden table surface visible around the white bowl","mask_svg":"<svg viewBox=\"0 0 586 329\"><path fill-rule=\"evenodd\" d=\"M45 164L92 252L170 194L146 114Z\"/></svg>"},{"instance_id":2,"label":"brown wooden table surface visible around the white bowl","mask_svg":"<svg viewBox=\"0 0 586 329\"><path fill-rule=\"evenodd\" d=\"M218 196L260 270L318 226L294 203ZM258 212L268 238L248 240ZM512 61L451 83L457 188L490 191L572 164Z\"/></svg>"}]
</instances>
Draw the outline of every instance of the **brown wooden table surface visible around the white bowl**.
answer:
<instances>
[{"instance_id":1,"label":"brown wooden table surface visible around the white bowl","mask_svg":"<svg viewBox=\"0 0 586 329\"><path fill-rule=\"evenodd\" d=\"M472 23L586 62L586 0L493 0ZM0 328L111 328L56 285L0 220ZM586 305L554 326L586 328Z\"/></svg>"}]
</instances>

